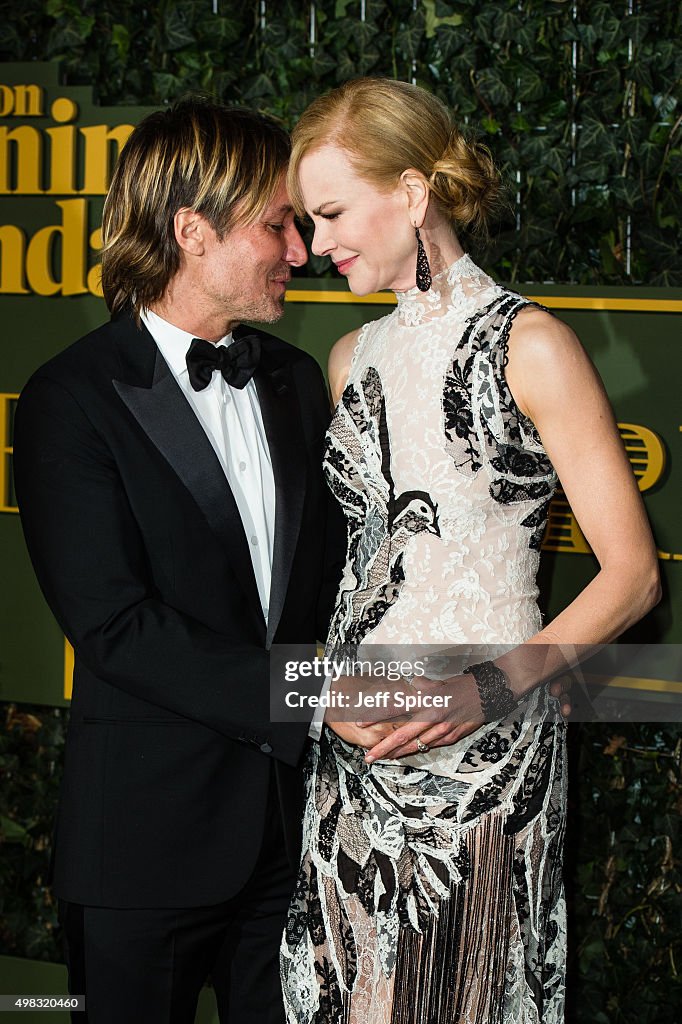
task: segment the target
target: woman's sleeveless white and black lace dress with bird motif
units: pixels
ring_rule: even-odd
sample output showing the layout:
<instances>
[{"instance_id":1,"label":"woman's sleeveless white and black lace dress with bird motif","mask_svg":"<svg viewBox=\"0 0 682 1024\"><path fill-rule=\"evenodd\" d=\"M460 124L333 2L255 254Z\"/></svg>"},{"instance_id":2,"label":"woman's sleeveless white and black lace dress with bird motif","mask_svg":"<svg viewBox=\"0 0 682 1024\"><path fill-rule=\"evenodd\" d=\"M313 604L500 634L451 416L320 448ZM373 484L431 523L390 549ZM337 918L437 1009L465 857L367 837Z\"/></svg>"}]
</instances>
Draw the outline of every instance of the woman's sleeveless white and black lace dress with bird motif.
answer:
<instances>
[{"instance_id":1,"label":"woman's sleeveless white and black lace dress with bird motif","mask_svg":"<svg viewBox=\"0 0 682 1024\"><path fill-rule=\"evenodd\" d=\"M327 440L348 525L328 654L514 645L556 477L504 367L527 300L468 256L366 325ZM282 942L289 1024L563 1020L565 728L536 689L458 743L367 766L325 728Z\"/></svg>"}]
</instances>

